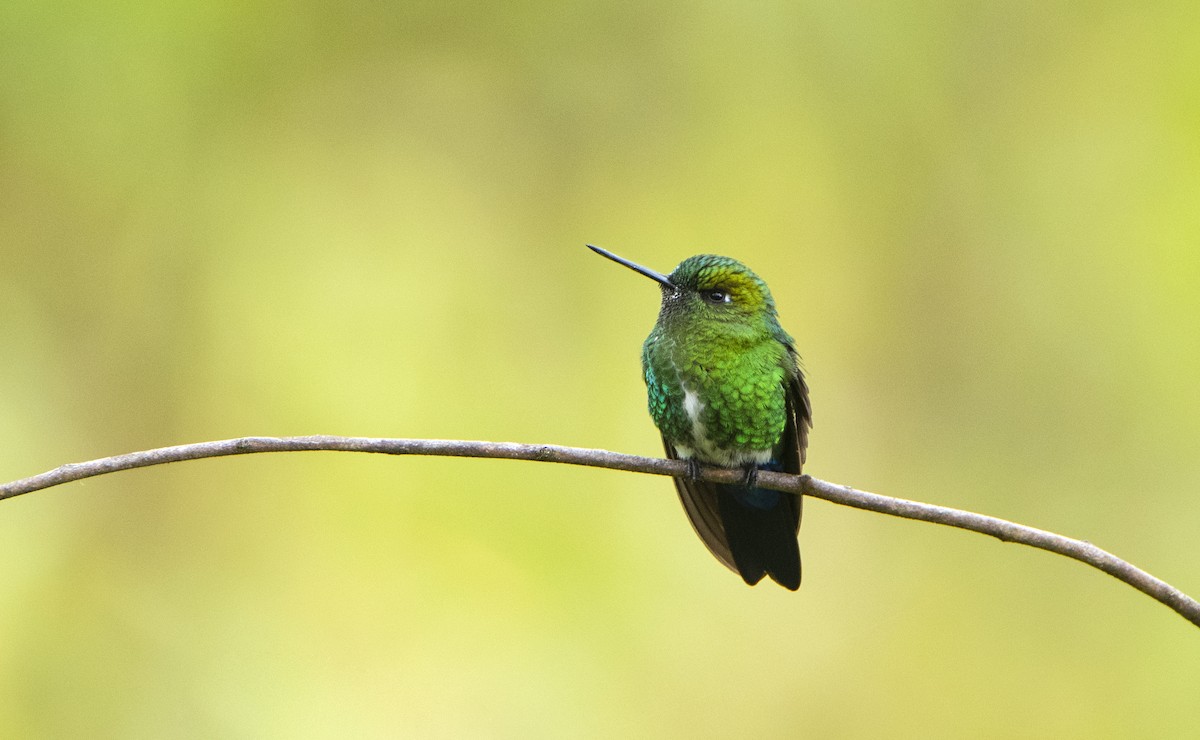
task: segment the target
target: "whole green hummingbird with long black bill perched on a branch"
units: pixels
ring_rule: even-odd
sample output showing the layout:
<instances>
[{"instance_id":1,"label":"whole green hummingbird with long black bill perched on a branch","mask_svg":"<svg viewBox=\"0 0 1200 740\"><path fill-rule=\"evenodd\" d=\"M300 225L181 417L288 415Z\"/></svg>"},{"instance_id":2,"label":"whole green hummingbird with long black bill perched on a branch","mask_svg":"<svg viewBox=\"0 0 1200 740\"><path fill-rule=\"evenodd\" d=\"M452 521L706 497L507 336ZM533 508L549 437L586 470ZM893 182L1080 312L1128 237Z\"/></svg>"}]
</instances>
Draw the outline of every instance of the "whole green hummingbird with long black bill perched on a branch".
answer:
<instances>
[{"instance_id":1,"label":"whole green hummingbird with long black bill perched on a branch","mask_svg":"<svg viewBox=\"0 0 1200 740\"><path fill-rule=\"evenodd\" d=\"M667 457L685 459L676 491L696 534L754 585L800 586L800 497L755 487L758 470L799 474L812 407L792 337L757 275L697 254L662 275L587 245L659 283L662 306L642 345L650 416ZM742 468L742 485L696 480L700 465Z\"/></svg>"}]
</instances>

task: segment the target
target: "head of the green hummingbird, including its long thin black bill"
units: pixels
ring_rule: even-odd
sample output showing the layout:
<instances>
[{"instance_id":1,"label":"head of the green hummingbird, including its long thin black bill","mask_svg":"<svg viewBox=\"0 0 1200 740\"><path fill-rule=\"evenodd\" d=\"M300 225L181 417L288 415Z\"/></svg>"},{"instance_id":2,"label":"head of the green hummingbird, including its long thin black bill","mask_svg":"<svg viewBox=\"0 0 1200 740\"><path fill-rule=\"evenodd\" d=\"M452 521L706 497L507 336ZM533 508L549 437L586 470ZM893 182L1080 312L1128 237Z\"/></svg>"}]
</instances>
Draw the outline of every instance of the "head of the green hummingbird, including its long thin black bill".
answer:
<instances>
[{"instance_id":1,"label":"head of the green hummingbird, including its long thin black bill","mask_svg":"<svg viewBox=\"0 0 1200 740\"><path fill-rule=\"evenodd\" d=\"M767 283L732 257L697 254L679 263L671 275L662 275L607 249L588 247L659 283L662 289L660 320L716 321L762 329L767 329L768 323L778 325L775 301Z\"/></svg>"}]
</instances>

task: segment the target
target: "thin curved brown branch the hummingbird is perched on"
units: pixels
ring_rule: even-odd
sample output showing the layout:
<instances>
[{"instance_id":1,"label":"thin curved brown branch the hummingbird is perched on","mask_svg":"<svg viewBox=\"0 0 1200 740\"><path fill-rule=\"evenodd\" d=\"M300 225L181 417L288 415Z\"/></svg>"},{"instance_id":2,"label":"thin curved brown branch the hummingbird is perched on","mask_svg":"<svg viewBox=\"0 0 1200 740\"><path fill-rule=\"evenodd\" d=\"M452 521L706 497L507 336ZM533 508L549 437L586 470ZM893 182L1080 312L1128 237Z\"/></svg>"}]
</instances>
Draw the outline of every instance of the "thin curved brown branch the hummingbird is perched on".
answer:
<instances>
[{"instance_id":1,"label":"thin curved brown branch the hummingbird is perched on","mask_svg":"<svg viewBox=\"0 0 1200 740\"><path fill-rule=\"evenodd\" d=\"M115 457L104 457L85 463L71 463L48 473L22 479L0 486L0 500L11 499L24 493L60 486L85 477L146 468L186 459L205 457L223 457L226 455L250 455L252 452L301 452L310 450L329 450L338 452L378 452L382 455L431 455L445 457L487 457L505 459L526 459L544 463L565 463L570 465L590 465L650 475L682 476L688 473L688 465L682 461L659 459L619 455L605 450L587 450L582 447L563 447L558 445L522 445L516 443L466 441L451 439L380 439L368 437L242 437L218 441L197 443L158 447L143 452L130 452ZM740 470L704 468L702 479L718 483L738 483L743 479ZM846 486L829 483L809 475L787 475L763 470L758 474L758 486L775 491L802 493L834 504L865 509L906 519L919 519L947 527L968 529L984 535L991 535L1004 542L1028 545L1074 558L1099 568L1105 573L1123 580L1139 591L1160 601L1178 612L1192 624L1200 626L1200 602L1175 586L1154 578L1146 571L1134 567L1091 542L1073 540L1050 531L1015 524L996 517L988 517L970 511L934 506L905 499L894 499L865 491L856 491Z\"/></svg>"}]
</instances>

